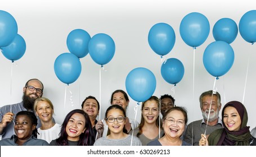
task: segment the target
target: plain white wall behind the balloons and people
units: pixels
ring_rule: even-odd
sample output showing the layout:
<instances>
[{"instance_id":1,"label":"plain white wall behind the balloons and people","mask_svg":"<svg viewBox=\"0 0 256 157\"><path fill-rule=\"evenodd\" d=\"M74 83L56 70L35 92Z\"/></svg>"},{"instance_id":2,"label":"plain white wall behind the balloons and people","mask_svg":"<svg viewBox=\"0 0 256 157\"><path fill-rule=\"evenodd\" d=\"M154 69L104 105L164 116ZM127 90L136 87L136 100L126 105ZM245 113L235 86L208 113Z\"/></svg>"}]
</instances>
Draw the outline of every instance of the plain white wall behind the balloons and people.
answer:
<instances>
[{"instance_id":1,"label":"plain white wall behind the balloons and people","mask_svg":"<svg viewBox=\"0 0 256 157\"><path fill-rule=\"evenodd\" d=\"M80 108L80 104L88 95L96 96L98 100L101 97L102 119L106 108L110 105L111 93L116 89L126 91L125 79L128 73L134 68L145 67L151 70L156 77L154 95L158 97L163 94L173 95L177 105L187 108L188 122L201 119L199 95L206 90L212 90L215 79L203 65L204 50L214 41L213 26L223 17L234 20L238 26L242 15L255 10L255 6L255 1L223 0L1 0L0 10L7 11L15 17L18 34L26 41L26 52L14 64L0 54L0 107L20 102L25 82L38 78L45 87L43 96L49 98L55 106L57 123L62 123L66 113L70 110ZM208 39L195 50L195 82L193 82L193 49L186 45L179 35L181 20L191 12L203 13L210 22ZM185 66L185 75L174 87L174 92L173 85L168 84L161 77L160 56L152 51L147 41L150 28L159 22L169 24L176 33L176 43L165 57L178 58ZM66 38L74 29L86 30L91 37L98 33L108 34L115 41L116 50L113 59L104 66L107 71L101 72L101 79L100 66L93 62L89 54L81 58L81 75L77 81L67 87L57 79L53 64L57 56L69 52ZM256 125L254 104L256 45L247 43L238 34L231 46L235 52L235 61L231 70L216 81L217 91L221 94L224 105L231 100L242 101L246 85L244 104L249 114L248 126L253 128ZM245 84L249 57L248 80ZM13 69L12 72L11 69ZM70 96L72 96L72 102L69 100ZM128 109L128 116L131 118L135 118L136 104L137 102L131 99ZM140 114L138 110L138 122L140 122Z\"/></svg>"}]
</instances>

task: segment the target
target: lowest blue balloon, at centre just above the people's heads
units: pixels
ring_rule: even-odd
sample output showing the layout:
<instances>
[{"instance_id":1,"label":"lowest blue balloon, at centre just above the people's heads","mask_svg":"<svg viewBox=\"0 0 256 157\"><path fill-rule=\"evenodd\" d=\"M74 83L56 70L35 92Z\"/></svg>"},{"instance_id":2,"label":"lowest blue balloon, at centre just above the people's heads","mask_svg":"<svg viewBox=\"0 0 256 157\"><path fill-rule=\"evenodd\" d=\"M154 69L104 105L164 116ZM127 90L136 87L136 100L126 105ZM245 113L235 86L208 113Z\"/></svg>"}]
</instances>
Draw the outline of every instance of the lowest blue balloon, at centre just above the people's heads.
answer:
<instances>
[{"instance_id":1,"label":"lowest blue balloon, at centre just above the people's heads","mask_svg":"<svg viewBox=\"0 0 256 157\"><path fill-rule=\"evenodd\" d=\"M155 75L147 68L134 68L126 77L125 87L133 100L146 101L155 92Z\"/></svg>"}]
</instances>

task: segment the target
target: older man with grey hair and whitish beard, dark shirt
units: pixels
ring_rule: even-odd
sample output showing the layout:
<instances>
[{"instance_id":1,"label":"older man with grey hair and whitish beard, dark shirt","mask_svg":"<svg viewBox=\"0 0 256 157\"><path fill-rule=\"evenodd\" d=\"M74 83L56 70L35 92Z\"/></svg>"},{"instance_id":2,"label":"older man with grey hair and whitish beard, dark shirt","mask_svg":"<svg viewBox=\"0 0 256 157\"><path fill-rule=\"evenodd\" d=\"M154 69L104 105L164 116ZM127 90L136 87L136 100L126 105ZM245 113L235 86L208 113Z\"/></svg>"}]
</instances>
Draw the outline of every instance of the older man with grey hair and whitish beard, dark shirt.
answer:
<instances>
[{"instance_id":1,"label":"older man with grey hair and whitish beard, dark shirt","mask_svg":"<svg viewBox=\"0 0 256 157\"><path fill-rule=\"evenodd\" d=\"M202 133L208 137L214 130L223 128L221 118L219 118L221 95L217 91L205 91L200 95L199 101L203 119L188 124L184 136L184 140L193 146L199 145Z\"/></svg>"}]
</instances>

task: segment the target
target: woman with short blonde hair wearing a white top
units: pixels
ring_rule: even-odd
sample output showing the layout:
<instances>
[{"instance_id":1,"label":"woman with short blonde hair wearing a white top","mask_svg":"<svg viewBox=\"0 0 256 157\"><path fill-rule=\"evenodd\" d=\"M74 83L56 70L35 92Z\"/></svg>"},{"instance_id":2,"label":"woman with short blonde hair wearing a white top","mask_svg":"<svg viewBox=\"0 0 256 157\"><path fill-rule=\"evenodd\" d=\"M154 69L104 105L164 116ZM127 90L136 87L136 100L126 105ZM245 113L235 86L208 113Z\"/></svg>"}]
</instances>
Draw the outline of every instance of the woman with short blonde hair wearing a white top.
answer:
<instances>
[{"instance_id":1,"label":"woman with short blonde hair wearing a white top","mask_svg":"<svg viewBox=\"0 0 256 157\"><path fill-rule=\"evenodd\" d=\"M53 105L47 98L38 98L34 103L34 110L42 125L38 128L38 138L50 143L59 137L61 125L53 121Z\"/></svg>"}]
</instances>

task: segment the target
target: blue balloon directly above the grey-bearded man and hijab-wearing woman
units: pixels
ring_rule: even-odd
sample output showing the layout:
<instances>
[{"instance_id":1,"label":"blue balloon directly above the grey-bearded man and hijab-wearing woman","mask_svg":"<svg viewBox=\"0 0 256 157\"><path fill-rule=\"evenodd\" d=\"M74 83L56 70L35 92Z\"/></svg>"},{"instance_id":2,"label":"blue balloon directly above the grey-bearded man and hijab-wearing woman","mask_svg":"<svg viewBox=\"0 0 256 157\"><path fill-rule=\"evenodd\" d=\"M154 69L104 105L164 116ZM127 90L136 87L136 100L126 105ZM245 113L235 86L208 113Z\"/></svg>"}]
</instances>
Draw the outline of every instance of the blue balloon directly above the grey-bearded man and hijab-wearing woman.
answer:
<instances>
[{"instance_id":1,"label":"blue balloon directly above the grey-bearded man and hijab-wearing woman","mask_svg":"<svg viewBox=\"0 0 256 157\"><path fill-rule=\"evenodd\" d=\"M235 54L230 44L225 41L214 41L204 51L204 67L210 75L219 77L230 70L234 58Z\"/></svg>"}]
</instances>

